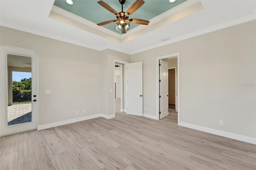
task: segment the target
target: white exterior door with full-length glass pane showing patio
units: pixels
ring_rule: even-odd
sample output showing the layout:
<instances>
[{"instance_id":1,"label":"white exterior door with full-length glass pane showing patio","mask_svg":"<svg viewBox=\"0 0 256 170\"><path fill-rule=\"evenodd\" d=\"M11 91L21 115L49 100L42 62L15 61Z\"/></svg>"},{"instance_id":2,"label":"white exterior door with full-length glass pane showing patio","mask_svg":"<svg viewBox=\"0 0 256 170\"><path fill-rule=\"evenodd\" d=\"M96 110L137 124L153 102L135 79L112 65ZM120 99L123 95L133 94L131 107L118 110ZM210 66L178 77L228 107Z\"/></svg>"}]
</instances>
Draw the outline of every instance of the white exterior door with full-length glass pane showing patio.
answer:
<instances>
[{"instance_id":1,"label":"white exterior door with full-length glass pane showing patio","mask_svg":"<svg viewBox=\"0 0 256 170\"><path fill-rule=\"evenodd\" d=\"M38 108L36 51L1 46L0 59L0 136L36 129ZM14 78L20 75L24 76L20 77L21 80L17 77ZM30 76L31 79L27 76ZM19 95L15 95L14 89L17 85L15 82L22 81L30 83L30 90L25 89L27 90L26 99L22 97L17 99ZM14 96L16 96L16 99Z\"/></svg>"}]
</instances>

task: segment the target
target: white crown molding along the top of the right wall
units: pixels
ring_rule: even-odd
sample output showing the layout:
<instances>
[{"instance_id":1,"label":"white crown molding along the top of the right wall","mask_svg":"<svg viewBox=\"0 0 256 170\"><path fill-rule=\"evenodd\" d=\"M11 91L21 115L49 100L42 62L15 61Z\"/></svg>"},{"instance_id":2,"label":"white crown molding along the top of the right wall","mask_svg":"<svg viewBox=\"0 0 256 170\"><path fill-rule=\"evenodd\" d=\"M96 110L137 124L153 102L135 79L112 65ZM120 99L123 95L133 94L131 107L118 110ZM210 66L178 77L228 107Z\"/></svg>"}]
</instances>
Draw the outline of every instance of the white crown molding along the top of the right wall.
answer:
<instances>
[{"instance_id":1,"label":"white crown molding along the top of the right wall","mask_svg":"<svg viewBox=\"0 0 256 170\"><path fill-rule=\"evenodd\" d=\"M186 34L184 36L173 38L171 40L168 40L168 41L165 41L165 42L162 42L162 43L158 43L156 45L151 45L149 47L145 47L145 48L142 48L142 49L139 49L139 50L131 51L130 55L140 53L140 52L143 52L143 51L147 51L147 50L150 50L150 49L154 49L154 48L157 48L157 47L161 47L161 46L164 46L164 45L168 45L170 43L175 43L175 42L179 42L179 41L182 41L182 40L186 40L188 38L193 38L193 37L196 37L196 36L207 34L209 32L214 32L214 31L217 31L217 30L228 28L230 26L235 26L235 25L238 25L238 24L242 24L244 22L248 22L248 21L252 21L252 20L256 20L256 15L255 14L251 14L249 16L238 18L236 20L225 22L223 24L219 24L219 25L216 25L216 26L205 28L205 29L197 31L197 32L192 32L190 34Z\"/></svg>"}]
</instances>

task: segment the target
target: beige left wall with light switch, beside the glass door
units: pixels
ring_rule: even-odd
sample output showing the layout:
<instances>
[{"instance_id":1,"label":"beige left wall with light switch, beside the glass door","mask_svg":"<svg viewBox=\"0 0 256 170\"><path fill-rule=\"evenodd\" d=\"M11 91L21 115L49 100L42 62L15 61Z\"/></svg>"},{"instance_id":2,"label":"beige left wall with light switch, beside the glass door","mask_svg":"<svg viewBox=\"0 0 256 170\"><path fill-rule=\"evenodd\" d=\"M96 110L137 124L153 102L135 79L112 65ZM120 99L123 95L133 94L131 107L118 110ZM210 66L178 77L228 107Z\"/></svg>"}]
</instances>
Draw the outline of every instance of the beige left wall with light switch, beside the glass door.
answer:
<instances>
[{"instance_id":1,"label":"beige left wall with light switch, beside the glass door","mask_svg":"<svg viewBox=\"0 0 256 170\"><path fill-rule=\"evenodd\" d=\"M38 51L38 125L102 112L100 51L6 27L0 33L1 45Z\"/></svg>"}]
</instances>

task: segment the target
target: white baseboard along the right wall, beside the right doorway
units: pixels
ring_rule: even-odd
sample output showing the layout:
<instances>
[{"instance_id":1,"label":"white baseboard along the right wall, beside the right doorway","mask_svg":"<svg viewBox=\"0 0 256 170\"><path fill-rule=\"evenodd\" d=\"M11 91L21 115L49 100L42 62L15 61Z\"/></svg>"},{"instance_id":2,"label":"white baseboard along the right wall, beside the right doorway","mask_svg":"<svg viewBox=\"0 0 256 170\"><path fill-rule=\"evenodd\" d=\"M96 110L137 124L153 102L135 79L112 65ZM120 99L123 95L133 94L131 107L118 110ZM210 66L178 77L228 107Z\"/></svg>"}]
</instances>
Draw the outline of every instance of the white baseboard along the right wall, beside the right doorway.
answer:
<instances>
[{"instance_id":1,"label":"white baseboard along the right wall, beside the right doorway","mask_svg":"<svg viewBox=\"0 0 256 170\"><path fill-rule=\"evenodd\" d=\"M224 137L227 137L227 138L240 140L240 141L243 141L243 142L256 144L256 138L252 138L252 137L249 137L249 136L244 136L244 135L241 135L241 134L225 132L225 131L222 131L222 130L217 130L217 129L208 128L208 127L202 127L202 126L193 125L193 124L185 123L185 122L179 122L178 125L182 126L182 127L192 128L192 129L195 129L195 130L200 130L200 131L203 131L203 132L216 134L216 135L219 135L219 136L224 136Z\"/></svg>"}]
</instances>

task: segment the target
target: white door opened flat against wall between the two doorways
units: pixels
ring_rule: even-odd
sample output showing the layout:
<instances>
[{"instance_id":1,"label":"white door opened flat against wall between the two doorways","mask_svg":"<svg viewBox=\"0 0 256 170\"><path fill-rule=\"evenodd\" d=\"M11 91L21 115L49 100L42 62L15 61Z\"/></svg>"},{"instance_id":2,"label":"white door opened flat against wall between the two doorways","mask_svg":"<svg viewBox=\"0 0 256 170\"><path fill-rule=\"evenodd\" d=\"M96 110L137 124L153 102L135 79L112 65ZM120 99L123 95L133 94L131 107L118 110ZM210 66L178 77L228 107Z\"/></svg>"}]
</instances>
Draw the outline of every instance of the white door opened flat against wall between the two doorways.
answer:
<instances>
[{"instance_id":1,"label":"white door opened flat against wall between the two doorways","mask_svg":"<svg viewBox=\"0 0 256 170\"><path fill-rule=\"evenodd\" d=\"M127 114L143 116L142 62L127 64Z\"/></svg>"}]
</instances>

